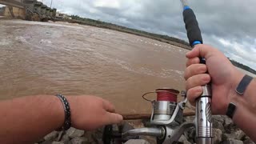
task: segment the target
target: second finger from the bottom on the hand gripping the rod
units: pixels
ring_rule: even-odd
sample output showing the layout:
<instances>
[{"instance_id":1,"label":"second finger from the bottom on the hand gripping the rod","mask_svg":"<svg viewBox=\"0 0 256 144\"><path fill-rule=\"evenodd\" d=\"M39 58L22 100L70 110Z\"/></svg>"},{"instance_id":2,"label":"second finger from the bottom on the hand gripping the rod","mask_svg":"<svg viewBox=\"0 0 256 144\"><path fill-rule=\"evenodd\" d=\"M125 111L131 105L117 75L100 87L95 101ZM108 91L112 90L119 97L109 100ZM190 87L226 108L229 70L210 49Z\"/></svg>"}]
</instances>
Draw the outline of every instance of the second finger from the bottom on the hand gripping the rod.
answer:
<instances>
[{"instance_id":1,"label":"second finger from the bottom on the hand gripping the rod","mask_svg":"<svg viewBox=\"0 0 256 144\"><path fill-rule=\"evenodd\" d=\"M209 74L194 75L186 80L186 90L190 90L196 86L204 86L210 82Z\"/></svg>"}]
</instances>

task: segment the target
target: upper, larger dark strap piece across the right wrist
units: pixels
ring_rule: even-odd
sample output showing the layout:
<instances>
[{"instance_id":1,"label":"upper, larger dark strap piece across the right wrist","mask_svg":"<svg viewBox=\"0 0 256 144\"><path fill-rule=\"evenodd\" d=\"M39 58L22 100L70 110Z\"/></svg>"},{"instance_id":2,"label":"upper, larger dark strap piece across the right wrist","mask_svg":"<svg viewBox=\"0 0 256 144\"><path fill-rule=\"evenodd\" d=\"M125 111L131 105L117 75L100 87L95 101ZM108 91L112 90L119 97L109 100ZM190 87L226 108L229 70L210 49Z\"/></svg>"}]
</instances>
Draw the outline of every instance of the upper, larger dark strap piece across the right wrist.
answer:
<instances>
[{"instance_id":1,"label":"upper, larger dark strap piece across the right wrist","mask_svg":"<svg viewBox=\"0 0 256 144\"><path fill-rule=\"evenodd\" d=\"M244 94L246 91L247 86L249 86L250 82L253 80L254 78L250 77L249 75L245 75L241 82L239 82L238 87L236 88L236 92L240 95Z\"/></svg>"}]
</instances>

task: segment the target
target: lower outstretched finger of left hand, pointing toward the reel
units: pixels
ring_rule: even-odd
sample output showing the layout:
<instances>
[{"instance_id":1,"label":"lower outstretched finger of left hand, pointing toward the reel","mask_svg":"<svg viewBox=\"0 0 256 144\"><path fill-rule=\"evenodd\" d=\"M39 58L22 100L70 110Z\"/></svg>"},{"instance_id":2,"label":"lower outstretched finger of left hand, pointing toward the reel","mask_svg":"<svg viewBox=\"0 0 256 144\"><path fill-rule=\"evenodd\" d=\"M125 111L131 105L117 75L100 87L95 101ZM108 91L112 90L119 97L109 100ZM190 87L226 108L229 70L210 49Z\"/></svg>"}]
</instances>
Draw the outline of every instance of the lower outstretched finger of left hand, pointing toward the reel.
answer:
<instances>
[{"instance_id":1,"label":"lower outstretched finger of left hand, pointing toward the reel","mask_svg":"<svg viewBox=\"0 0 256 144\"><path fill-rule=\"evenodd\" d=\"M122 122L122 115L106 112L106 116L103 119L105 125L118 124Z\"/></svg>"}]
</instances>

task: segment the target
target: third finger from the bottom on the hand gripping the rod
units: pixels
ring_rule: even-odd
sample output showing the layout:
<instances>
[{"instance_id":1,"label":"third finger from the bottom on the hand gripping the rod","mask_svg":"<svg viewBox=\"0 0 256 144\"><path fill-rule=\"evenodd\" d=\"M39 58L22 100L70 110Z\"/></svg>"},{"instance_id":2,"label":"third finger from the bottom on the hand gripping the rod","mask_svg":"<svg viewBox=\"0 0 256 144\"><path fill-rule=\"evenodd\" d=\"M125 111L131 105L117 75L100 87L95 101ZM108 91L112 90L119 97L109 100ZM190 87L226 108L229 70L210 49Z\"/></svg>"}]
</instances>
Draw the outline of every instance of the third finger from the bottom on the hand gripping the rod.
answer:
<instances>
[{"instance_id":1,"label":"third finger from the bottom on the hand gripping the rod","mask_svg":"<svg viewBox=\"0 0 256 144\"><path fill-rule=\"evenodd\" d=\"M193 75L205 74L206 71L207 71L207 67L204 64L190 65L186 68L184 78L187 80L188 78L192 77Z\"/></svg>"}]
</instances>

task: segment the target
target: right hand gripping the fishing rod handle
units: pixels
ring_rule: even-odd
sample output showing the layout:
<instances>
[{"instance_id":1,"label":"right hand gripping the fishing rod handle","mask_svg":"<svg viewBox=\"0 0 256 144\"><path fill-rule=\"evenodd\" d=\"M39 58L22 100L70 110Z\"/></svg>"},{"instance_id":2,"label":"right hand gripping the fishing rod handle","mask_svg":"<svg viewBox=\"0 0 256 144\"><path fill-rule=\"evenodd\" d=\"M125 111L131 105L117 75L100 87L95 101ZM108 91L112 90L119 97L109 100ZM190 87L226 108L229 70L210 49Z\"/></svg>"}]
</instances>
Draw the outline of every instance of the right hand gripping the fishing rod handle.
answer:
<instances>
[{"instance_id":1,"label":"right hand gripping the fishing rod handle","mask_svg":"<svg viewBox=\"0 0 256 144\"><path fill-rule=\"evenodd\" d=\"M200 64L198 57L206 58L206 65ZM242 79L239 72L222 52L207 45L197 45L186 54L187 97L192 105L202 94L202 86L211 81L212 112L226 114L230 99L235 95L235 88ZM208 74L206 72L208 71Z\"/></svg>"}]
</instances>

